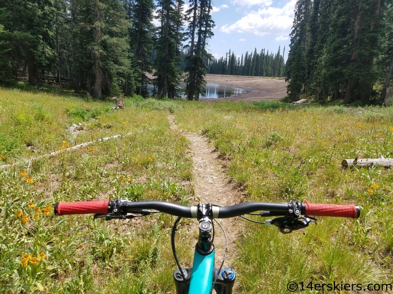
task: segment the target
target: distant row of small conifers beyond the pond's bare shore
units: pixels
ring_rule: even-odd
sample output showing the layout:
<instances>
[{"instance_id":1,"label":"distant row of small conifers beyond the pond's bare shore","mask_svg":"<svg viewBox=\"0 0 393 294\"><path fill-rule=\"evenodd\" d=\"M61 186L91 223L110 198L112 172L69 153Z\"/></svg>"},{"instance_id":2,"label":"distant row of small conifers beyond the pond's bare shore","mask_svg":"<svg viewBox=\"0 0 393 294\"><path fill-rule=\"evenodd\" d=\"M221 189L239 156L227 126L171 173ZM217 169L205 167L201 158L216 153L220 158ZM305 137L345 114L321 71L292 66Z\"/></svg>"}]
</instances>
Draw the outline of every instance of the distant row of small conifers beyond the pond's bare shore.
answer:
<instances>
[{"instance_id":1,"label":"distant row of small conifers beyond the pond's bare shore","mask_svg":"<svg viewBox=\"0 0 393 294\"><path fill-rule=\"evenodd\" d=\"M247 51L239 57L234 52L226 52L220 58L210 59L208 62L208 73L231 74L231 75L250 75L250 76L278 76L281 77L285 72L284 62L285 47L281 55L281 46L276 54L269 50L262 49L259 53L256 48L254 52Z\"/></svg>"}]
</instances>

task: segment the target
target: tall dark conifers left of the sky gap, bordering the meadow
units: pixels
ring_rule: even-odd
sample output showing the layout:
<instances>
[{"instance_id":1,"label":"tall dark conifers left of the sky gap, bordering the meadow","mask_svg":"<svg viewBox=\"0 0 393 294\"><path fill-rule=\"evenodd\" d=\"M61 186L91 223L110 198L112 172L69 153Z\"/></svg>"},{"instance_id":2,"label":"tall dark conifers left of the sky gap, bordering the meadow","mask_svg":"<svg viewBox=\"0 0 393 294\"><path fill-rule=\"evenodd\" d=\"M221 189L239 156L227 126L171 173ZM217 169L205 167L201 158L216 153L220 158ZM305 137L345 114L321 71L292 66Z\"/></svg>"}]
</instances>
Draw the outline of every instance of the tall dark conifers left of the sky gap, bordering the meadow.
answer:
<instances>
[{"instance_id":1,"label":"tall dark conifers left of the sky gap, bordering the meadow","mask_svg":"<svg viewBox=\"0 0 393 294\"><path fill-rule=\"evenodd\" d=\"M95 98L147 96L153 83L160 98L175 98L184 80L187 98L198 99L212 5L183 6L183 0L1 0L0 83L28 76L31 85L65 82Z\"/></svg>"}]
</instances>

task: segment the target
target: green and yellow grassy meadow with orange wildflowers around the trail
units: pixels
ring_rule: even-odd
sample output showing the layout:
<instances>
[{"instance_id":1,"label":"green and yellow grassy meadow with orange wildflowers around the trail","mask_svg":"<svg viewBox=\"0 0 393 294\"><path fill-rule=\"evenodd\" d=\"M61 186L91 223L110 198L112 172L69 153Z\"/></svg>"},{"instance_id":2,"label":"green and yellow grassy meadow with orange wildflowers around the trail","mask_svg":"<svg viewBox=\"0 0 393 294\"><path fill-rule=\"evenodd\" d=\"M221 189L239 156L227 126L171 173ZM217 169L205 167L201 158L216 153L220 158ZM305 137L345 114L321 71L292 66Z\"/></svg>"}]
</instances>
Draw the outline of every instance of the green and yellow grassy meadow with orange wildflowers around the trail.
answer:
<instances>
[{"instance_id":1,"label":"green and yellow grassy meadow with orange wildflowers around the trail","mask_svg":"<svg viewBox=\"0 0 393 294\"><path fill-rule=\"evenodd\" d=\"M238 292L289 293L289 281L393 280L392 170L340 166L346 158L393 157L393 108L134 97L125 99L125 110L111 111L110 102L87 100L0 89L0 165L9 165L0 170L1 293L174 293L175 218L107 222L53 214L58 201L194 203L189 143L170 129L169 114L179 129L209 138L248 201L363 208L359 220L318 218L289 235L242 220ZM80 123L74 135L73 123ZM190 267L197 227L186 220L180 227L178 256Z\"/></svg>"}]
</instances>

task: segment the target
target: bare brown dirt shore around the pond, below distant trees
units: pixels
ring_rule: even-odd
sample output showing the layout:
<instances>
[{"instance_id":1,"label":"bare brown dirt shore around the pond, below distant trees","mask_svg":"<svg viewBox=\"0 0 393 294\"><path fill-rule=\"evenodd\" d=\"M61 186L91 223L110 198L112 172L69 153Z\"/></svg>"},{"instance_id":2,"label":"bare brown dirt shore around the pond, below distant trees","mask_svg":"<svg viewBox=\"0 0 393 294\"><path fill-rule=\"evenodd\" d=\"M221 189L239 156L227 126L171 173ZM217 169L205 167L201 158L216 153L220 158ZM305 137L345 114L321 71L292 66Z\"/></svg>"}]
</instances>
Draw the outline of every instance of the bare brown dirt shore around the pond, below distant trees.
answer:
<instances>
[{"instance_id":1,"label":"bare brown dirt shore around the pond, below distant trees","mask_svg":"<svg viewBox=\"0 0 393 294\"><path fill-rule=\"evenodd\" d=\"M202 101L216 102L229 100L253 102L259 100L280 100L286 96L287 82L283 78L273 79L256 76L207 74L206 81L208 83L239 87L244 89L245 93L226 98L200 99Z\"/></svg>"}]
</instances>

